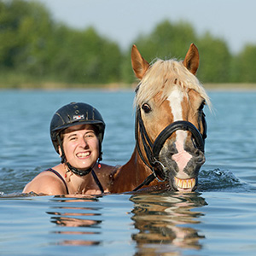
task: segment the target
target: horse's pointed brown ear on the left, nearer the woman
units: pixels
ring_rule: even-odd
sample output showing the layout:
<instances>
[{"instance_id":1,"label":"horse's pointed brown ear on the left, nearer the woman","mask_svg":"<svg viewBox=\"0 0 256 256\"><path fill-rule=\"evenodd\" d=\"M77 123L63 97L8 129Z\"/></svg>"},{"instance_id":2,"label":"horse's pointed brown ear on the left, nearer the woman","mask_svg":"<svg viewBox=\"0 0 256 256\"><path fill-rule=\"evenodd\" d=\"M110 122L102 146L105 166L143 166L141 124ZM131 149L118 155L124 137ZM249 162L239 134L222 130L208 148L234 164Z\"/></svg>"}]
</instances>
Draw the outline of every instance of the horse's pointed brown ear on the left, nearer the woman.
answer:
<instances>
[{"instance_id":1,"label":"horse's pointed brown ear on the left, nearer the woman","mask_svg":"<svg viewBox=\"0 0 256 256\"><path fill-rule=\"evenodd\" d=\"M134 44L131 49L131 66L138 79L143 79L144 74L150 66L148 61L143 59L143 56L139 53L136 45Z\"/></svg>"}]
</instances>

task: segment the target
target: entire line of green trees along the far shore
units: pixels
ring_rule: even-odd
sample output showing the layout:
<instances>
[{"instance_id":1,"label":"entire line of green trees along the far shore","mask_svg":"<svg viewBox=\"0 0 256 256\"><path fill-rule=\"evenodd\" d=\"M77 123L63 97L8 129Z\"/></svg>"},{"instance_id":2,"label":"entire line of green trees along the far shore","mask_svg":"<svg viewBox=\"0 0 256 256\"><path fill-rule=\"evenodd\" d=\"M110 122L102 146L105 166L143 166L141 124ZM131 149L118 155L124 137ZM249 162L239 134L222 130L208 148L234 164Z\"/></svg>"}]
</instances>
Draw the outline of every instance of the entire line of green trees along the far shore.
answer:
<instances>
[{"instance_id":1,"label":"entire line of green trees along the far shore","mask_svg":"<svg viewBox=\"0 0 256 256\"><path fill-rule=\"evenodd\" d=\"M163 20L133 44L147 61L182 59L194 43L200 52L203 83L256 83L256 45L232 54L223 38L199 36L188 22ZM51 17L44 4L0 0L0 84L20 88L60 84L130 84L131 47L102 37L93 27L71 28Z\"/></svg>"}]
</instances>

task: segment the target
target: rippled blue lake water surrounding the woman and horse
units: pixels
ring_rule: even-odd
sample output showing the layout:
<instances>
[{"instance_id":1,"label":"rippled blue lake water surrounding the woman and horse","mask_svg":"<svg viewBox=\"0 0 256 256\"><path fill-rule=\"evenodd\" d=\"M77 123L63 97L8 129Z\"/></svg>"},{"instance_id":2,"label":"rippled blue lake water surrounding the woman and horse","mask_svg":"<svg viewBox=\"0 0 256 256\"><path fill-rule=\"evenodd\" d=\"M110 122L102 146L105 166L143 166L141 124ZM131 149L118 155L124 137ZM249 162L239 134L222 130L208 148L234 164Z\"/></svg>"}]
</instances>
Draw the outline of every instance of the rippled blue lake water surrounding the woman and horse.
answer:
<instances>
[{"instance_id":1,"label":"rippled blue lake water surrounding the woman and horse","mask_svg":"<svg viewBox=\"0 0 256 256\"><path fill-rule=\"evenodd\" d=\"M103 161L134 148L131 91L0 93L0 255L254 255L256 92L209 92L207 162L195 193L24 196L60 158L49 122L68 102L88 102L107 123Z\"/></svg>"}]
</instances>

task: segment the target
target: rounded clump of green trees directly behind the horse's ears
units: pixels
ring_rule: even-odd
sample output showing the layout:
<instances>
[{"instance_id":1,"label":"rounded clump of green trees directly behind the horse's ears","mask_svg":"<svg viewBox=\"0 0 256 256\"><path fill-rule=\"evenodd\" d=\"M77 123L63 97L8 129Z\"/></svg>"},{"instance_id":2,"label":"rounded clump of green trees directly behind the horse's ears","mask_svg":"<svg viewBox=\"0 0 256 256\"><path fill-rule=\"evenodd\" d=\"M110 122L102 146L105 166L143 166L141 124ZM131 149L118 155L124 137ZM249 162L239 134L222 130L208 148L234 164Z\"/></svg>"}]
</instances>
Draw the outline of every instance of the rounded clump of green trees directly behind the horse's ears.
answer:
<instances>
[{"instance_id":1,"label":"rounded clump of green trees directly behind the horse's ears","mask_svg":"<svg viewBox=\"0 0 256 256\"><path fill-rule=\"evenodd\" d=\"M209 83L229 82L232 55L227 44L220 38L213 38L209 32L202 37L196 36L193 27L187 22L171 23L165 20L149 35L136 40L137 48L147 61L155 57L183 59L191 43L198 47L200 53L199 79ZM130 52L125 57L122 73L124 79L131 82L134 78L131 79L130 75Z\"/></svg>"}]
</instances>

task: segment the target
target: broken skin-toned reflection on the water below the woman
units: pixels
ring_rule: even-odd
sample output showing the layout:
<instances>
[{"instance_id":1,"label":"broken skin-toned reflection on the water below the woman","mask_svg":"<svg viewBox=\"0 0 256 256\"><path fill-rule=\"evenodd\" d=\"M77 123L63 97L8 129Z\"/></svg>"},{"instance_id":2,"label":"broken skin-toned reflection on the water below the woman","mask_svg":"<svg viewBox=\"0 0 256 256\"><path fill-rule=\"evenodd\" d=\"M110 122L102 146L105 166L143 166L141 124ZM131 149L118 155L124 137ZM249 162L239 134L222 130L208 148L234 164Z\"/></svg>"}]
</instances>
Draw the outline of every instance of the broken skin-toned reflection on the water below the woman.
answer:
<instances>
[{"instance_id":1,"label":"broken skin-toned reflection on the water below the woman","mask_svg":"<svg viewBox=\"0 0 256 256\"><path fill-rule=\"evenodd\" d=\"M58 200L56 200L58 199ZM55 202L58 203L57 211L46 212L50 217L50 221L63 228L54 231L55 234L65 235L68 239L63 239L59 244L61 245L74 245L74 246L91 246L98 245L101 241L88 240L88 236L100 234L99 224L102 223L101 219L92 219L94 217L101 218L100 207L80 207L81 202L83 206L88 206L91 202L96 202L98 199L92 196L83 196L81 198L69 198L68 196L55 196ZM60 207L60 203L64 203L63 207ZM70 206L67 206L72 203ZM78 204L78 207L76 207ZM53 207L54 208L54 207ZM68 229L68 228L86 228L85 230ZM90 230L91 229L91 230ZM83 239L84 236L84 239ZM73 238L73 239L70 239Z\"/></svg>"}]
</instances>

